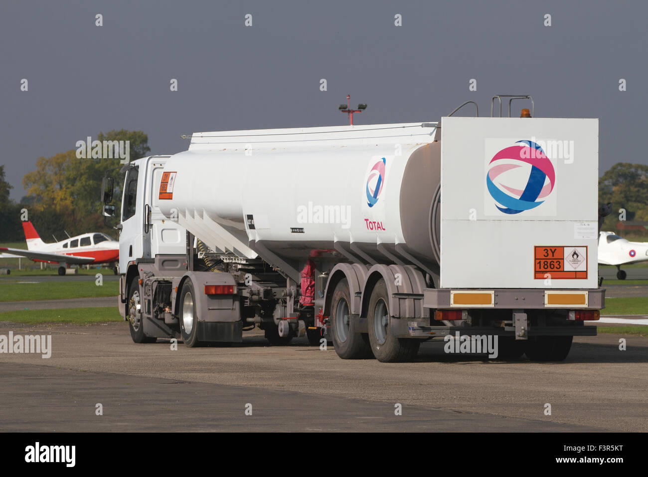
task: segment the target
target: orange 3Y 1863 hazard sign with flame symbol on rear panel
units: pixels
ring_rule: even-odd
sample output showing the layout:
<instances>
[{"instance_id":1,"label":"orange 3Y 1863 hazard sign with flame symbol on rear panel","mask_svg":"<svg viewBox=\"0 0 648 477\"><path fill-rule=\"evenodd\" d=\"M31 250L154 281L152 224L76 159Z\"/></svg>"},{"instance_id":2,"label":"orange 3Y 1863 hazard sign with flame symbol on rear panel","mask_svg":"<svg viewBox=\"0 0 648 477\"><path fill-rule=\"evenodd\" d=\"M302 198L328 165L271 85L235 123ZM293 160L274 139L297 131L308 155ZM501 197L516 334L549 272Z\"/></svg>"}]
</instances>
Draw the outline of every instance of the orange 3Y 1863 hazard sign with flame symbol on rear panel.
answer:
<instances>
[{"instance_id":1,"label":"orange 3Y 1863 hazard sign with flame symbol on rear panel","mask_svg":"<svg viewBox=\"0 0 648 477\"><path fill-rule=\"evenodd\" d=\"M533 247L533 278L587 278L587 247L551 245Z\"/></svg>"}]
</instances>

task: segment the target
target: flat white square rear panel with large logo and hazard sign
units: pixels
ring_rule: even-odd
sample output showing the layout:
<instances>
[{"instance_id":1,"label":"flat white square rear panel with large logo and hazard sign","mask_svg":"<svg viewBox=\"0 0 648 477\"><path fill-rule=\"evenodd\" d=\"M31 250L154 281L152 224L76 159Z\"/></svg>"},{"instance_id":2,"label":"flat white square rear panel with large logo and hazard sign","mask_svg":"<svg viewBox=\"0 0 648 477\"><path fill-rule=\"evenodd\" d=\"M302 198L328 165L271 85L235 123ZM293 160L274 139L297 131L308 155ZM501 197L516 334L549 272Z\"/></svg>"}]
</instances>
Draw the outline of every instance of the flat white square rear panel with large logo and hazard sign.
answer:
<instances>
[{"instance_id":1,"label":"flat white square rear panel with large logo and hazard sign","mask_svg":"<svg viewBox=\"0 0 648 477\"><path fill-rule=\"evenodd\" d=\"M596 288L597 184L597 119L444 117L441 287Z\"/></svg>"}]
</instances>

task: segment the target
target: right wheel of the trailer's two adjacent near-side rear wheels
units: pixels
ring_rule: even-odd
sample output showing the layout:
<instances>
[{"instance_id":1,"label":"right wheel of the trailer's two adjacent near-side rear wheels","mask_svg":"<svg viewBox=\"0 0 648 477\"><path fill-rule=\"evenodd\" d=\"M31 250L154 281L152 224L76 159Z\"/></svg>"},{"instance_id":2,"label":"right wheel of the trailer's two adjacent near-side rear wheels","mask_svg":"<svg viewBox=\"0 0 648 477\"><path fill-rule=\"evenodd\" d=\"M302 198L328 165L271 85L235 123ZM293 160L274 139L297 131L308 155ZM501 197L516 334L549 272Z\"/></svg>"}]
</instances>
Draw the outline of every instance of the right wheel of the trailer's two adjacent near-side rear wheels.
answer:
<instances>
[{"instance_id":1,"label":"right wheel of the trailer's two adjacent near-side rear wheels","mask_svg":"<svg viewBox=\"0 0 648 477\"><path fill-rule=\"evenodd\" d=\"M369 318L369 342L376 360L382 363L399 363L412 361L415 358L421 341L396 338L389 331L389 321L393 318L389 313L387 286L382 278L376 282L371 292L367 317Z\"/></svg>"}]
</instances>

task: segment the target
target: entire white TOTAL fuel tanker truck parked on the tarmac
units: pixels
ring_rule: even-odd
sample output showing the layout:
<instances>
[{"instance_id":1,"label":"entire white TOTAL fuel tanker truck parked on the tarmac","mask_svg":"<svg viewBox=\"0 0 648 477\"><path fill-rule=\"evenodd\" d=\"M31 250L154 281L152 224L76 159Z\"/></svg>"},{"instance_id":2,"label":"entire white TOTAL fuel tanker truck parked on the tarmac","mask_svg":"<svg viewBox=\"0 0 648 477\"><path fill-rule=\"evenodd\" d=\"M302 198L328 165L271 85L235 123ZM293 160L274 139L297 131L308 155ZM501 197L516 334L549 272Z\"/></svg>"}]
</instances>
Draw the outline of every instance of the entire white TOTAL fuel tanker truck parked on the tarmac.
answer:
<instances>
[{"instance_id":1,"label":"entire white TOTAL fuel tanker truck parked on the tarmac","mask_svg":"<svg viewBox=\"0 0 648 477\"><path fill-rule=\"evenodd\" d=\"M498 358L560 361L596 335L597 119L197 132L122 172L118 301L135 343L260 328L391 362L496 337Z\"/></svg>"}]
</instances>

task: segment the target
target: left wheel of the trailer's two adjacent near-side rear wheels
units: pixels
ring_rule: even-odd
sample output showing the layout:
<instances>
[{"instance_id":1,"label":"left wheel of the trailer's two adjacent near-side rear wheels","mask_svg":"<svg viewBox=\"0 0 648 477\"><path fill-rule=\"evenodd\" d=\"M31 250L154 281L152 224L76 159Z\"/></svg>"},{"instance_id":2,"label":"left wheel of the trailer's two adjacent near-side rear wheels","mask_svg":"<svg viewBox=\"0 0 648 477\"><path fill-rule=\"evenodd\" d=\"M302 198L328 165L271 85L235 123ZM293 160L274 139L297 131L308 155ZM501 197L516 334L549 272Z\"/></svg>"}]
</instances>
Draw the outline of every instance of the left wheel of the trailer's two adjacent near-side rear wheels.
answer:
<instances>
[{"instance_id":1,"label":"left wheel of the trailer's two adjacent near-side rear wheels","mask_svg":"<svg viewBox=\"0 0 648 477\"><path fill-rule=\"evenodd\" d=\"M346 278L343 278L335 287L330 303L330 334L335 352L343 360L373 358L369 337L367 334L355 331L350 304L349 283Z\"/></svg>"}]
</instances>

